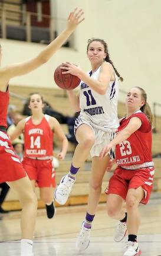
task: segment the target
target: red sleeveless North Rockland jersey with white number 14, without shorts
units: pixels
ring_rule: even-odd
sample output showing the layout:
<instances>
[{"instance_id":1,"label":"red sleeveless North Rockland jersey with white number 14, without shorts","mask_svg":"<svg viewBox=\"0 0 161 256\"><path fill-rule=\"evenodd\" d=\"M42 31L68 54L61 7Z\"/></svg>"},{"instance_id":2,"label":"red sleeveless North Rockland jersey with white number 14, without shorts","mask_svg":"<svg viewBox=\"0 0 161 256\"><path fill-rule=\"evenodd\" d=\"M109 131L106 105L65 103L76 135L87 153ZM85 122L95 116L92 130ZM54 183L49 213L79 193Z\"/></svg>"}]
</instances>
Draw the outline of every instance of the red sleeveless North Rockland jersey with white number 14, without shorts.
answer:
<instances>
[{"instance_id":1,"label":"red sleeveless North Rockland jersey with white number 14, without shorts","mask_svg":"<svg viewBox=\"0 0 161 256\"><path fill-rule=\"evenodd\" d=\"M48 123L50 116L44 115L40 124L33 124L31 116L27 117L24 127L24 156L52 156L53 133Z\"/></svg>"}]
</instances>

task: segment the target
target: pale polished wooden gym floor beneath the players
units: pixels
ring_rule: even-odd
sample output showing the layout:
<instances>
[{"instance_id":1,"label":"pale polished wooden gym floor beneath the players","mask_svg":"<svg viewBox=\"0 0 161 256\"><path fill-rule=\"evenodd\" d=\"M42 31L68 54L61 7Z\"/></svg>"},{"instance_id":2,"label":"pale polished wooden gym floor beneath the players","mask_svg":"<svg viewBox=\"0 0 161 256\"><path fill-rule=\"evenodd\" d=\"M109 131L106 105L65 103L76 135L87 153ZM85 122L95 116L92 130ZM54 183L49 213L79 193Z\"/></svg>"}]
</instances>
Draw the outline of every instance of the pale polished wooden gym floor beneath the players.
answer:
<instances>
[{"instance_id":1,"label":"pale polished wooden gym floor beneath the players","mask_svg":"<svg viewBox=\"0 0 161 256\"><path fill-rule=\"evenodd\" d=\"M0 255L19 256L20 213L0 216ZM91 242L82 254L75 251L75 237L86 214L86 206L58 207L56 216L49 220L45 209L38 210L34 240L34 256L97 255L122 256L123 242L113 241L116 220L106 214L106 204L99 204L91 232ZM138 241L143 256L161 255L161 194L153 194L147 206L140 205L142 224ZM27 223L28 225L28 223Z\"/></svg>"}]
</instances>

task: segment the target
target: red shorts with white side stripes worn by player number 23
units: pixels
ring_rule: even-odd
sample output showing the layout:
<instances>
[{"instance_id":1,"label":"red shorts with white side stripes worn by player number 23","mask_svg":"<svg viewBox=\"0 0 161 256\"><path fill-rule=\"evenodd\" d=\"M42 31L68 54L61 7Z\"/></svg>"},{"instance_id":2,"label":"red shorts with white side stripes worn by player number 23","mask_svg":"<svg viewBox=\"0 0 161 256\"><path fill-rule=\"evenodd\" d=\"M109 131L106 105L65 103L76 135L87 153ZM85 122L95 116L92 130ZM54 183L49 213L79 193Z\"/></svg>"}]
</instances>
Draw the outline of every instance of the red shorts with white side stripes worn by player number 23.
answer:
<instances>
[{"instance_id":1,"label":"red shorts with white side stripes worn by player number 23","mask_svg":"<svg viewBox=\"0 0 161 256\"><path fill-rule=\"evenodd\" d=\"M142 187L145 196L140 203L147 204L153 188L154 174L154 167L137 170L127 170L117 167L109 180L109 187L105 192L106 194L118 194L126 200L127 191L130 188L136 189Z\"/></svg>"}]
</instances>

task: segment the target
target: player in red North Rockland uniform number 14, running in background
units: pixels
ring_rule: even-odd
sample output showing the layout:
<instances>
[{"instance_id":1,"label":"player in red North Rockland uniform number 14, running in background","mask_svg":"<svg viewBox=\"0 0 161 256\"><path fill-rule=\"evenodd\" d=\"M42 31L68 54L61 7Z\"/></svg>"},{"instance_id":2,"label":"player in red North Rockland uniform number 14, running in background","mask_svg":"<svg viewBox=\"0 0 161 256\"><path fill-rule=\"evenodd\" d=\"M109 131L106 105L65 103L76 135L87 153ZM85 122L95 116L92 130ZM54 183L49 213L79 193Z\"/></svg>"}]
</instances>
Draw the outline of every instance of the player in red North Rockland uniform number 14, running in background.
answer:
<instances>
[{"instance_id":1,"label":"player in red North Rockland uniform number 14, running in background","mask_svg":"<svg viewBox=\"0 0 161 256\"><path fill-rule=\"evenodd\" d=\"M53 188L55 188L55 172L52 168L53 133L62 143L58 159L65 157L68 140L65 137L60 123L54 117L43 114L43 98L40 94L29 97L29 108L32 116L19 121L10 139L11 142L24 132L24 159L22 165L35 188L37 182L40 188L40 198L44 201L47 216L54 216Z\"/></svg>"}]
</instances>

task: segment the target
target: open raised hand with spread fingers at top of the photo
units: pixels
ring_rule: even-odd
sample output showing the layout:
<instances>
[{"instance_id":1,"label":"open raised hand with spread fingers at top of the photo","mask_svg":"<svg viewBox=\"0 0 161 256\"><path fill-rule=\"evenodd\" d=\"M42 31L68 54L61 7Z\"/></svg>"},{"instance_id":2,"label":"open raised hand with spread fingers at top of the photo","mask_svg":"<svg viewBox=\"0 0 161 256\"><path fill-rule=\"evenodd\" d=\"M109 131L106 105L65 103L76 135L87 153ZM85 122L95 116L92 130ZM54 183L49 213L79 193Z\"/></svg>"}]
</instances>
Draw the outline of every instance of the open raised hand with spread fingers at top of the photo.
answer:
<instances>
[{"instance_id":1,"label":"open raised hand with spread fingers at top of the photo","mask_svg":"<svg viewBox=\"0 0 161 256\"><path fill-rule=\"evenodd\" d=\"M68 30L75 30L78 24L80 24L84 18L83 18L83 10L80 9L77 11L77 8L74 9L73 12L70 13L68 20L67 20L67 29Z\"/></svg>"}]
</instances>

